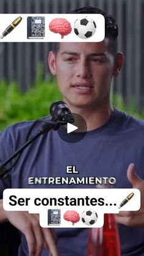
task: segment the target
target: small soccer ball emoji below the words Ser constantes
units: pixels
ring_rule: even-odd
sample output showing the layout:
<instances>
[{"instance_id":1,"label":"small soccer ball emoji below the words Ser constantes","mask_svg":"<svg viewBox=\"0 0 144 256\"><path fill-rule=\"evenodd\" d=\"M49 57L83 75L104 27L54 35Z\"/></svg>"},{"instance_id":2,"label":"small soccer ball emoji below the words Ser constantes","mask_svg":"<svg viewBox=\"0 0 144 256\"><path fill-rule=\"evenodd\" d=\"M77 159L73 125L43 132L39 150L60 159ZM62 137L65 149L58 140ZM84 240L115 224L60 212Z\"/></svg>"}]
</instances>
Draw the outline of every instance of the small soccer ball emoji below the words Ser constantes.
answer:
<instances>
[{"instance_id":1,"label":"small soccer ball emoji below the words Ser constantes","mask_svg":"<svg viewBox=\"0 0 144 256\"><path fill-rule=\"evenodd\" d=\"M83 211L82 222L85 225L93 225L98 219L98 214L93 210Z\"/></svg>"}]
</instances>

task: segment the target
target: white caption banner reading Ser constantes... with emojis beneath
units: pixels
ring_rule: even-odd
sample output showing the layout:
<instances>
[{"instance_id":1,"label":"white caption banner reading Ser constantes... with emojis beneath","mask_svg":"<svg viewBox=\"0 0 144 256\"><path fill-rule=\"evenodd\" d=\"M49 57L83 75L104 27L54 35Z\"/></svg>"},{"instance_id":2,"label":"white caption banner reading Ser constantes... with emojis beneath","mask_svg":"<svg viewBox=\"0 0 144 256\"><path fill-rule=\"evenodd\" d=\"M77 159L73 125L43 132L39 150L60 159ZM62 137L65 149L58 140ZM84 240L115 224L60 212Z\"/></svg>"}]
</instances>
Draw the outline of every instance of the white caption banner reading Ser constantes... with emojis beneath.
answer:
<instances>
[{"instance_id":1,"label":"white caption banner reading Ser constantes... with emojis beneath","mask_svg":"<svg viewBox=\"0 0 144 256\"><path fill-rule=\"evenodd\" d=\"M40 214L41 227L102 227L104 213L140 209L139 189L5 189L6 211Z\"/></svg>"}]
</instances>

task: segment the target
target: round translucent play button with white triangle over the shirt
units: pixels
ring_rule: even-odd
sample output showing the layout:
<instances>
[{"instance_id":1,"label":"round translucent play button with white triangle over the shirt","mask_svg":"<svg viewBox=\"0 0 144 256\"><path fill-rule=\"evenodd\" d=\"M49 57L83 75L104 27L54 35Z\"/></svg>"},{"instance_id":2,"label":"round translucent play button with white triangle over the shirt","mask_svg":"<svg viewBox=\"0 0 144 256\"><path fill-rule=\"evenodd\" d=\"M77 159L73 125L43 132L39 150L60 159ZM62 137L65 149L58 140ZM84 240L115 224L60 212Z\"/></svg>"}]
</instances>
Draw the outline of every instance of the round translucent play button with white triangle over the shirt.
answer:
<instances>
[{"instance_id":1,"label":"round translucent play button with white triangle over the shirt","mask_svg":"<svg viewBox=\"0 0 144 256\"><path fill-rule=\"evenodd\" d=\"M76 143L84 139L87 133L87 123L81 115L72 113L74 122L62 125L57 130L63 141Z\"/></svg>"}]
</instances>

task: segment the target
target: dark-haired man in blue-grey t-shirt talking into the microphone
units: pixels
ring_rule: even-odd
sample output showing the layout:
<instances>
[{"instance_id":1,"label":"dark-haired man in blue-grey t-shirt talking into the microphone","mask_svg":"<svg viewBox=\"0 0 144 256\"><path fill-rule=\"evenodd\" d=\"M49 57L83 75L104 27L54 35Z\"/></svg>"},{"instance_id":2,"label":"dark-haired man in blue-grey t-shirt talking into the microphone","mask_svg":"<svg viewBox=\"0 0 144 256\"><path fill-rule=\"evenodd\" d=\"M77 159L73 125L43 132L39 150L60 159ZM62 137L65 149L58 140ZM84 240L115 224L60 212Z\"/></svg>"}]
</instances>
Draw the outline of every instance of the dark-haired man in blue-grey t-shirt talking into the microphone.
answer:
<instances>
[{"instance_id":1,"label":"dark-haired man in blue-grey t-shirt talking into the microphone","mask_svg":"<svg viewBox=\"0 0 144 256\"><path fill-rule=\"evenodd\" d=\"M87 122L87 136L77 143L62 141L57 131L40 136L24 150L13 167L12 188L43 188L41 185L27 185L28 177L63 177L65 166L74 165L80 177L115 176L115 188L139 188L143 201L144 181L139 176L144 178L144 123L112 108L110 104L110 82L113 76L118 76L124 59L123 54L117 53L117 24L112 16L99 9L84 7L76 12L103 14L106 38L100 43L56 44L54 51L49 53L48 61L52 75L56 75L63 101L71 112L81 115ZM18 123L1 134L1 145L5 145L1 147L1 161L26 141L32 125L33 122ZM38 127L34 127L32 134ZM68 187L71 188L57 185L57 188ZM73 188L77 187L80 186ZM1 182L1 191L4 188ZM54 229L58 238L57 252L52 230L39 226L37 214L4 211L1 200L0 219L9 220L24 234L20 256L45 256L48 248L53 256L87 255L88 229ZM143 202L139 211L117 214L117 222L121 255L144 256Z\"/></svg>"}]
</instances>

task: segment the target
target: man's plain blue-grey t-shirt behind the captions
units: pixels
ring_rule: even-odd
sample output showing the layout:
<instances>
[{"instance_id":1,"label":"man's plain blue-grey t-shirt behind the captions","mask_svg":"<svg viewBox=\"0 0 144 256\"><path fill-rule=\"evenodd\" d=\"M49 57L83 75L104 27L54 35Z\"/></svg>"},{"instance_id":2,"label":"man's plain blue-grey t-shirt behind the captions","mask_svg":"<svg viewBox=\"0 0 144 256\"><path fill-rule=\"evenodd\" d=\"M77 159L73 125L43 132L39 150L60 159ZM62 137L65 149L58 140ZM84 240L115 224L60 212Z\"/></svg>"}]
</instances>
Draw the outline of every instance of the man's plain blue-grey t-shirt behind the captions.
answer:
<instances>
[{"instance_id":1,"label":"man's plain blue-grey t-shirt behind the captions","mask_svg":"<svg viewBox=\"0 0 144 256\"><path fill-rule=\"evenodd\" d=\"M34 122L9 126L0 136L0 159L3 162L26 142ZM34 135L41 123L31 132ZM88 131L82 141L63 141L57 131L49 131L27 147L12 169L12 188L95 188L95 185L28 185L28 177L67 177L66 166L76 166L79 177L115 177L114 188L131 188L127 178L130 163L144 179L144 122L114 109L103 126ZM14 162L8 164L10 167ZM76 177L76 174L74 175ZM5 180L5 183L8 183ZM8 186L8 185L6 185ZM0 194L4 189L0 181ZM89 229L55 229L60 256L86 256ZM118 225L122 256L144 256L144 227ZM19 256L28 256L22 235ZM41 256L47 256L43 250Z\"/></svg>"}]
</instances>

